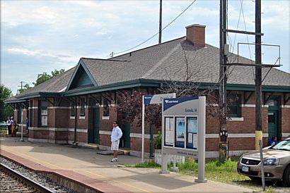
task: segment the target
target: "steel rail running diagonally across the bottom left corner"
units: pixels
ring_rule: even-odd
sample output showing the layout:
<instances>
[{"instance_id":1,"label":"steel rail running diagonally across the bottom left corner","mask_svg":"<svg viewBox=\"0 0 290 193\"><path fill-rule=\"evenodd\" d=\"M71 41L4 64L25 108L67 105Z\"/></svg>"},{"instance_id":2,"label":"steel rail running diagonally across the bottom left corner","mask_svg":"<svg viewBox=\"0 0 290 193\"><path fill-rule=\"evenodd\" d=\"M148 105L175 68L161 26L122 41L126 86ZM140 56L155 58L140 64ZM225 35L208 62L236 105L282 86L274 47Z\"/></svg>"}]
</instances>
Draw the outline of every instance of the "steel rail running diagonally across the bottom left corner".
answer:
<instances>
[{"instance_id":1,"label":"steel rail running diagonally across the bottom left corner","mask_svg":"<svg viewBox=\"0 0 290 193\"><path fill-rule=\"evenodd\" d=\"M37 183L29 178L26 178L21 173L18 173L18 172L16 172L16 170L8 168L7 166L5 166L2 163L0 163L0 168L1 168L1 170L4 170L5 172L13 175L15 178L18 178L19 180L21 180L25 184L30 185L31 187L34 187L35 189L37 189L40 192L43 192L43 193L52 193L53 192L52 190L48 189L47 187L44 187L44 186L40 185L39 183Z\"/></svg>"}]
</instances>

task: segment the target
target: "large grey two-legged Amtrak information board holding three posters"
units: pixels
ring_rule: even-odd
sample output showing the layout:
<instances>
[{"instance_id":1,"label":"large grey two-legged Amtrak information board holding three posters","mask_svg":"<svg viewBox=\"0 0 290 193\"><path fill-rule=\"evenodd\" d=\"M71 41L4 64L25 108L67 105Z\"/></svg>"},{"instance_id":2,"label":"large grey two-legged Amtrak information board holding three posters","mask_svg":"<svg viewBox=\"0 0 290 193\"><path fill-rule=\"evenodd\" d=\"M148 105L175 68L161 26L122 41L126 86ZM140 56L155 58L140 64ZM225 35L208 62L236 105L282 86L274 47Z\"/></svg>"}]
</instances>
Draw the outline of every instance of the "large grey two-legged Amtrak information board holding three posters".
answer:
<instances>
[{"instance_id":1,"label":"large grey two-legged Amtrak information board holding three posters","mask_svg":"<svg viewBox=\"0 0 290 193\"><path fill-rule=\"evenodd\" d=\"M163 99L162 164L159 173L168 173L168 154L198 159L198 179L205 180L206 97Z\"/></svg>"}]
</instances>

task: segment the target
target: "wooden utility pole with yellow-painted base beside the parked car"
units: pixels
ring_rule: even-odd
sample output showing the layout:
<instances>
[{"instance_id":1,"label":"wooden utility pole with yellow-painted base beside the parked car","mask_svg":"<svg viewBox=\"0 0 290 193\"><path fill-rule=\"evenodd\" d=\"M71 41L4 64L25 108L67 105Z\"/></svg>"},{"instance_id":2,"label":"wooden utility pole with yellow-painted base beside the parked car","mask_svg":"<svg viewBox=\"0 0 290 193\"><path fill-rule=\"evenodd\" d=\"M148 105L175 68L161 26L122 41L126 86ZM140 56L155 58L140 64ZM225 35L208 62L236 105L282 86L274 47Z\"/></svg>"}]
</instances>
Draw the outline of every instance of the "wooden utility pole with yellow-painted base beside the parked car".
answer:
<instances>
[{"instance_id":1,"label":"wooden utility pole with yellow-painted base beside the parked car","mask_svg":"<svg viewBox=\"0 0 290 193\"><path fill-rule=\"evenodd\" d=\"M255 149L262 140L261 0L255 1Z\"/></svg>"}]
</instances>

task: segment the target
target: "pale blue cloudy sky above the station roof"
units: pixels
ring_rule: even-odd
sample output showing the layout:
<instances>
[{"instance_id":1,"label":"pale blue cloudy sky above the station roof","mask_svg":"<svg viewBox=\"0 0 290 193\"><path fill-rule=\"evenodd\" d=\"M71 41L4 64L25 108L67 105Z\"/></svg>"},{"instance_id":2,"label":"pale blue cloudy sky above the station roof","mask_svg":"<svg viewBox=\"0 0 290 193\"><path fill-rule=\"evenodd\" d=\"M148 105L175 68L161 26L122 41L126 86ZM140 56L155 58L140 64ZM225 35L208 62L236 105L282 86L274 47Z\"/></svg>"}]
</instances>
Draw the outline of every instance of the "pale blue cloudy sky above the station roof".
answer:
<instances>
[{"instance_id":1,"label":"pale blue cloudy sky above the station roof","mask_svg":"<svg viewBox=\"0 0 290 193\"><path fill-rule=\"evenodd\" d=\"M192 4L193 2L193 4ZM192 6L190 6L192 4ZM241 6L242 5L242 6ZM187 11L182 13L188 6ZM290 1L262 0L263 44L281 46L279 70L289 67ZM219 47L219 0L163 0L162 42L185 36L185 26L206 25L206 42ZM21 81L32 86L40 73L74 67L81 57L109 58L158 32L159 1L17 1L1 0L1 84L16 94ZM255 2L228 3L228 29L255 31ZM252 35L228 34L231 51ZM158 35L130 51L158 44ZM254 46L240 46L255 59ZM275 63L277 46L262 47L263 63ZM116 55L115 55L116 56Z\"/></svg>"}]
</instances>

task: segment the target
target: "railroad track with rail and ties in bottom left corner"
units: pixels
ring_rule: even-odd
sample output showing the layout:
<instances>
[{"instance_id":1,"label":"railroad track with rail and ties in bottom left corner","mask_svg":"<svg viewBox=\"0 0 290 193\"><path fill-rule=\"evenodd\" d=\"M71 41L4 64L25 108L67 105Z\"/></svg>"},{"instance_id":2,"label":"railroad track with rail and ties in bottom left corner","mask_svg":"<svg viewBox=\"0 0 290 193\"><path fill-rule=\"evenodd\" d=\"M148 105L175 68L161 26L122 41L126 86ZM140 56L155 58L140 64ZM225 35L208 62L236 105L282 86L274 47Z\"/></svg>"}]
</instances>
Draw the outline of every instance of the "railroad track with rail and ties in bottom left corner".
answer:
<instances>
[{"instance_id":1,"label":"railroad track with rail and ties in bottom left corner","mask_svg":"<svg viewBox=\"0 0 290 193\"><path fill-rule=\"evenodd\" d=\"M40 185L39 183L26 178L21 173L16 172L11 168L0 163L0 170L1 170L1 192L44 192L50 193L54 192L47 187ZM11 178L12 177L12 178ZM8 187L4 186L4 181L8 184Z\"/></svg>"}]
</instances>

